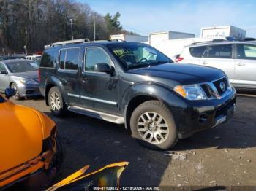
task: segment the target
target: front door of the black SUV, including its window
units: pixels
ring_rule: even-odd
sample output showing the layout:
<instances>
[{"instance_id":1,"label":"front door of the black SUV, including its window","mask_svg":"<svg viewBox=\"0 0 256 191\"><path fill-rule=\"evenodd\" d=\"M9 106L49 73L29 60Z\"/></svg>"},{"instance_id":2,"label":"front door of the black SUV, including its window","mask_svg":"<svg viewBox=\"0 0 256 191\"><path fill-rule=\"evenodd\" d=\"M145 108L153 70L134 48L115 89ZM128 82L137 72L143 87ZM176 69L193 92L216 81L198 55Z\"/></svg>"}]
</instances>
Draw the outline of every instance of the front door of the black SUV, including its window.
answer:
<instances>
[{"instance_id":1,"label":"front door of the black SUV, including its window","mask_svg":"<svg viewBox=\"0 0 256 191\"><path fill-rule=\"evenodd\" d=\"M115 68L110 55L102 47L86 47L80 78L80 103L86 108L118 114L118 76L94 71L97 63L107 63Z\"/></svg>"}]
</instances>

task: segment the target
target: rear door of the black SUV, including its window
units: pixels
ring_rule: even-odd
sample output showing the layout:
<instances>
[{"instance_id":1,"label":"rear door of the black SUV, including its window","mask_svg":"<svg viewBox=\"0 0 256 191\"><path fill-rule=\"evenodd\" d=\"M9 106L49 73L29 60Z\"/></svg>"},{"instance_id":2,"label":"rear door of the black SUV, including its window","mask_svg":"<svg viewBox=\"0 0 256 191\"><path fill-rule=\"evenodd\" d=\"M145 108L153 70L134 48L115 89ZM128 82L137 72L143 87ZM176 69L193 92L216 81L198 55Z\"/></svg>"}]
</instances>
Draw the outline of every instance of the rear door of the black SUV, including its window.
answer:
<instances>
[{"instance_id":1,"label":"rear door of the black SUV, including its window","mask_svg":"<svg viewBox=\"0 0 256 191\"><path fill-rule=\"evenodd\" d=\"M71 105L77 105L80 102L80 77L78 70L80 59L80 47L69 47L59 50L58 77Z\"/></svg>"}]
</instances>

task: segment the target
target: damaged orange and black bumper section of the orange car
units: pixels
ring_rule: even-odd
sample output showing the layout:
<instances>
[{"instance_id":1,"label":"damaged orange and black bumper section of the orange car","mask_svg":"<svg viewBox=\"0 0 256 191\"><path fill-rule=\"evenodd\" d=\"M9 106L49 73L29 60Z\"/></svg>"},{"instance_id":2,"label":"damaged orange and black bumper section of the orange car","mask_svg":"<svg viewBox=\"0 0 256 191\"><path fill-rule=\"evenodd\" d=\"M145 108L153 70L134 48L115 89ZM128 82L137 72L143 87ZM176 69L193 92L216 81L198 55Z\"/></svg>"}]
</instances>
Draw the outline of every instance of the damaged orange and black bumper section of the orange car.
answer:
<instances>
[{"instance_id":1,"label":"damaged orange and black bumper section of the orange car","mask_svg":"<svg viewBox=\"0 0 256 191\"><path fill-rule=\"evenodd\" d=\"M59 152L56 151L57 144L56 130L53 130L51 136L43 140L39 156L0 174L0 190L8 187L17 190L16 186L19 188L20 184L28 190L32 187L34 190L45 190L45 185L48 185L59 170L60 164L56 161Z\"/></svg>"}]
</instances>

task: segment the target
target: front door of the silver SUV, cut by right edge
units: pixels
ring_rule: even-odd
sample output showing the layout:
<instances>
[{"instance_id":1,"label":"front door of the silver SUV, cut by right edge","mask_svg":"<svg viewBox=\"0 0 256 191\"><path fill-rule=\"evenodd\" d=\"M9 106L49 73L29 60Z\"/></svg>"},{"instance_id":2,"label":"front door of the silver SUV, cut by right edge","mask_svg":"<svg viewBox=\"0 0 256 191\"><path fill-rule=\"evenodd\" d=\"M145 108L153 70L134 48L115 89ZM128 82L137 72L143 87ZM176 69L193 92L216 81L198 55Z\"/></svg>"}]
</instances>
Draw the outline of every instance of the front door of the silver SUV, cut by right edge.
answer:
<instances>
[{"instance_id":1,"label":"front door of the silver SUV, cut by right edge","mask_svg":"<svg viewBox=\"0 0 256 191\"><path fill-rule=\"evenodd\" d=\"M234 85L256 88L256 45L237 44Z\"/></svg>"}]
</instances>

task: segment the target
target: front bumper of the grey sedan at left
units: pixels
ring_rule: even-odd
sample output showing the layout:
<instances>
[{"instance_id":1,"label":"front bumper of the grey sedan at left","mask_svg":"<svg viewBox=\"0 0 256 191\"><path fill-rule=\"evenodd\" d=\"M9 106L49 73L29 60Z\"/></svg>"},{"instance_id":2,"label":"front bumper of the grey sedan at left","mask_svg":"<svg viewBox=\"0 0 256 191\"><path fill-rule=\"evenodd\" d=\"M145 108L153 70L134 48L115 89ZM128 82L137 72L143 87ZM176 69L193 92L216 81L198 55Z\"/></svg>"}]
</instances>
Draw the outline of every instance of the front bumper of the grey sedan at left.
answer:
<instances>
[{"instance_id":1,"label":"front bumper of the grey sedan at left","mask_svg":"<svg viewBox=\"0 0 256 191\"><path fill-rule=\"evenodd\" d=\"M39 90L39 85L18 85L18 93L20 94L20 97L42 95Z\"/></svg>"}]
</instances>

